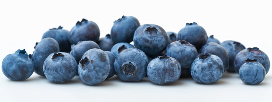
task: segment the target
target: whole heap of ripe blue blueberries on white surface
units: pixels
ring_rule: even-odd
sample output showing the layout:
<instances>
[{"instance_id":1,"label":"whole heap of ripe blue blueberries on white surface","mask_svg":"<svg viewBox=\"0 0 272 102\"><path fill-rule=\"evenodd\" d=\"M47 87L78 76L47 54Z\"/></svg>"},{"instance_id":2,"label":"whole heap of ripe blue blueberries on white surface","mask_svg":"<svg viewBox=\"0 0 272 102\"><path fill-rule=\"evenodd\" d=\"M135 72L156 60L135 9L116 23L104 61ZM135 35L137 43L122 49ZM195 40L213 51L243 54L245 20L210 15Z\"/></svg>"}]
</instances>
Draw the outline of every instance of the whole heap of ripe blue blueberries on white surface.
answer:
<instances>
[{"instance_id":1,"label":"whole heap of ripe blue blueberries on white surface","mask_svg":"<svg viewBox=\"0 0 272 102\"><path fill-rule=\"evenodd\" d=\"M33 54L17 50L2 62L10 80L25 80L33 72L54 83L75 75L88 85L97 85L117 75L138 82L146 75L158 85L192 77L203 84L214 83L224 72L238 73L245 84L262 82L270 68L268 56L259 48L245 48L237 41L208 38L203 27L187 23L178 34L155 24L140 25L132 16L114 21L110 34L100 38L96 23L82 19L67 31L46 31ZM133 41L134 45L130 43Z\"/></svg>"}]
</instances>

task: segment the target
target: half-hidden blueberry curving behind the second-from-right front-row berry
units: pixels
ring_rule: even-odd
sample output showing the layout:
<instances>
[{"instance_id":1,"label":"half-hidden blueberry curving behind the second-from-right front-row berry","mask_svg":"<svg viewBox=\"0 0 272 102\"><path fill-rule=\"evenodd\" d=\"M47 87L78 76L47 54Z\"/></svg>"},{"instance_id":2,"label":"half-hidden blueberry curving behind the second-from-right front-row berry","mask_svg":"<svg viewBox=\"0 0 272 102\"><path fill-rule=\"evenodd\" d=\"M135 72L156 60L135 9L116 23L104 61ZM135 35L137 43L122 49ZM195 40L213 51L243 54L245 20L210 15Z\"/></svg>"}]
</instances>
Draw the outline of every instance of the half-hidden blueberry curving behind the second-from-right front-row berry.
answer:
<instances>
[{"instance_id":1,"label":"half-hidden blueberry curving behind the second-from-right front-row berry","mask_svg":"<svg viewBox=\"0 0 272 102\"><path fill-rule=\"evenodd\" d=\"M229 68L229 55L224 47L215 42L210 42L202 46L202 48L199 50L199 54L206 52L218 56L223 61L224 72L227 71Z\"/></svg>"}]
</instances>

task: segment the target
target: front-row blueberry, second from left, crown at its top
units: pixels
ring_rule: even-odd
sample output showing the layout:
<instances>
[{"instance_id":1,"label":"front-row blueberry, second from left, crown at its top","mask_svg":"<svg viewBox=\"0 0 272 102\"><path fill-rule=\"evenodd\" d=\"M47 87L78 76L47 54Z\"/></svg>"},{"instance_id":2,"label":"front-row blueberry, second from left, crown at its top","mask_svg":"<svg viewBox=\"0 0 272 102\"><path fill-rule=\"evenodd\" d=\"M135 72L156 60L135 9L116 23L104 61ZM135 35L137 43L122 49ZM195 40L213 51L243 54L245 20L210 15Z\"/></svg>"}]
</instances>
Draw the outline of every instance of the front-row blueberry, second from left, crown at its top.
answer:
<instances>
[{"instance_id":1,"label":"front-row blueberry, second from left, crown at its top","mask_svg":"<svg viewBox=\"0 0 272 102\"><path fill-rule=\"evenodd\" d=\"M50 54L43 64L45 77L53 83L70 81L76 75L77 68L76 59L66 52Z\"/></svg>"}]
</instances>

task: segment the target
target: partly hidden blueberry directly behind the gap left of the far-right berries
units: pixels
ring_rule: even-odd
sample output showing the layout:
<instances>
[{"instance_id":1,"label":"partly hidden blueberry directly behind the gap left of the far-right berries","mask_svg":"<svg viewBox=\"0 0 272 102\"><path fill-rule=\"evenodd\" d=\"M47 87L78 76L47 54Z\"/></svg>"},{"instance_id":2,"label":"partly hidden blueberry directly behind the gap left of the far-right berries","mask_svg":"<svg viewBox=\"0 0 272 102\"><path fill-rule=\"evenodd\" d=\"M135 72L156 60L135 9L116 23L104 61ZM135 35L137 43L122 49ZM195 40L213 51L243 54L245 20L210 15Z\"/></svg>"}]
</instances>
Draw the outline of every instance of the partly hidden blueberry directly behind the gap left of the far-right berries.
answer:
<instances>
[{"instance_id":1,"label":"partly hidden blueberry directly behind the gap left of the far-right berries","mask_svg":"<svg viewBox=\"0 0 272 102\"><path fill-rule=\"evenodd\" d=\"M229 68L227 71L229 72L235 72L234 70L234 59L235 56L240 52L241 50L245 49L245 46L239 42L236 41L224 41L220 43L221 46L223 46L229 55Z\"/></svg>"}]
</instances>

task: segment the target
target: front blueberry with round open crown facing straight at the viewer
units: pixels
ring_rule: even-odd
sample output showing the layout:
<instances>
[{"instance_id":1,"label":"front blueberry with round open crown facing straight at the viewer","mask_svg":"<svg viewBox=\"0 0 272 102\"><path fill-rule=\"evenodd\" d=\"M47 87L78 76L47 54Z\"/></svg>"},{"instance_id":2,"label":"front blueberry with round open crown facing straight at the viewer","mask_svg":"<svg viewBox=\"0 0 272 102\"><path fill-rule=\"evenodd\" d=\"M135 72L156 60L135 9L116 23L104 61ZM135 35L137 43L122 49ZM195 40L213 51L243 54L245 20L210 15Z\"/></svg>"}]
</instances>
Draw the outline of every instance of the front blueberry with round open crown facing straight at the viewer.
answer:
<instances>
[{"instance_id":1,"label":"front blueberry with round open crown facing straight at the viewer","mask_svg":"<svg viewBox=\"0 0 272 102\"><path fill-rule=\"evenodd\" d=\"M114 62L116 75L123 81L138 82L146 75L148 58L137 48L127 48L117 55Z\"/></svg>"}]
</instances>

